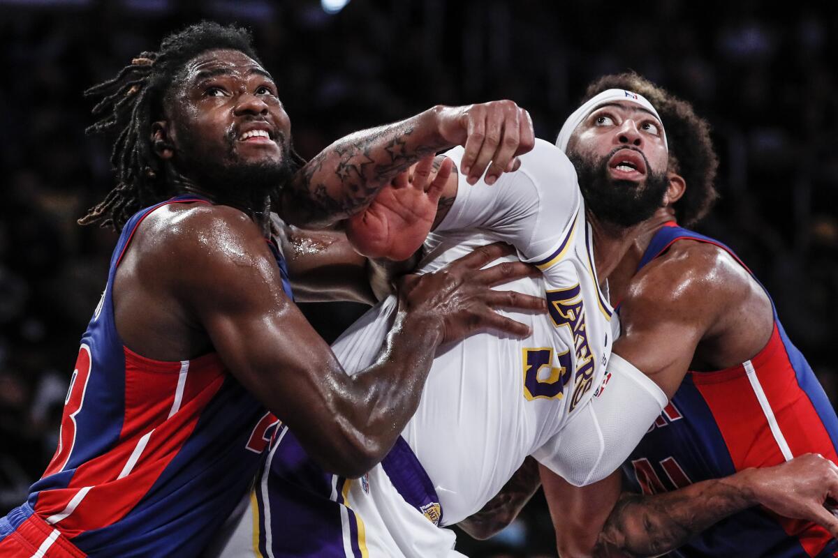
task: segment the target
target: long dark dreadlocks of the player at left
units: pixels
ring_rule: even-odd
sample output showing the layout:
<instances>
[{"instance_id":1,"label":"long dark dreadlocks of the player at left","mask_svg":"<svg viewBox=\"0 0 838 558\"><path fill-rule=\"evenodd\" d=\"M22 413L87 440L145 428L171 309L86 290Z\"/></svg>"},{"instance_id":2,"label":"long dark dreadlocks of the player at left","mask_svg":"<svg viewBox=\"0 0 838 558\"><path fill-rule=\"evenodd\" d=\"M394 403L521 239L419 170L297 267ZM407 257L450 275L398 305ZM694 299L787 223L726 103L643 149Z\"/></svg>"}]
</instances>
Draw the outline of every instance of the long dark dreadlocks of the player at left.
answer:
<instances>
[{"instance_id":1,"label":"long dark dreadlocks of the player at left","mask_svg":"<svg viewBox=\"0 0 838 558\"><path fill-rule=\"evenodd\" d=\"M142 207L171 195L162 161L153 151L152 124L163 120L163 100L184 65L214 49L238 50L261 64L247 29L203 21L168 35L157 52L141 53L113 79L85 91L86 97L101 98L93 107L99 120L85 131L116 133L111 152L116 187L79 224L98 223L119 231ZM305 162L293 150L292 159L297 166Z\"/></svg>"}]
</instances>

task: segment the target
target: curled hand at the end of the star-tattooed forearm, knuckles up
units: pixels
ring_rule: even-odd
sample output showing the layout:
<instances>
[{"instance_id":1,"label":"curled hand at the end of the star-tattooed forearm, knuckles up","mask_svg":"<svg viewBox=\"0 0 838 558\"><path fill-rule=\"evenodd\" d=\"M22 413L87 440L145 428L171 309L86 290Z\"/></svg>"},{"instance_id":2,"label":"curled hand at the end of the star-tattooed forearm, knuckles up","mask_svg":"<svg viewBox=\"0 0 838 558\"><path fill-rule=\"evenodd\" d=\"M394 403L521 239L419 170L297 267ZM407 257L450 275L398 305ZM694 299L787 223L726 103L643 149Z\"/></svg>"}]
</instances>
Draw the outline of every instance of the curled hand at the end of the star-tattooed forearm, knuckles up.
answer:
<instances>
[{"instance_id":1,"label":"curled hand at the end of the star-tattooed forearm, knuckles up","mask_svg":"<svg viewBox=\"0 0 838 558\"><path fill-rule=\"evenodd\" d=\"M517 156L535 146L530 113L511 100L443 107L437 128L445 141L465 146L460 171L469 184L476 183L487 166L485 182L494 184L502 172L520 166Z\"/></svg>"}]
</instances>

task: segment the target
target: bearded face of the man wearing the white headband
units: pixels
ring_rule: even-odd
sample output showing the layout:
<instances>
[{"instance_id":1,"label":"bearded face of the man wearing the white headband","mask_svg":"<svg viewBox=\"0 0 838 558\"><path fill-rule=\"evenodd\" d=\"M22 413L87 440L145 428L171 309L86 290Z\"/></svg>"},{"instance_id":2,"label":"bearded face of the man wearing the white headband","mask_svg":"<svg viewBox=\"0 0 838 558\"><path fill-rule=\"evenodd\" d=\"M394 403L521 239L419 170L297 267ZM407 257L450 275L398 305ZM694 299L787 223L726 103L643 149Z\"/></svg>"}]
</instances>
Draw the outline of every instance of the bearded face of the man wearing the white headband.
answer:
<instances>
[{"instance_id":1,"label":"bearded face of the man wearing the white headband","mask_svg":"<svg viewBox=\"0 0 838 558\"><path fill-rule=\"evenodd\" d=\"M628 101L598 107L573 132L567 154L597 218L630 227L664 204L669 154L663 135L660 120Z\"/></svg>"}]
</instances>

